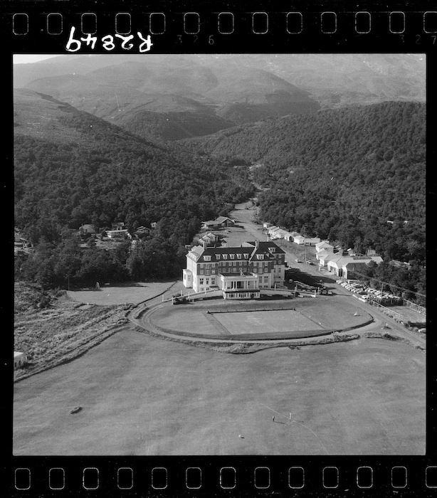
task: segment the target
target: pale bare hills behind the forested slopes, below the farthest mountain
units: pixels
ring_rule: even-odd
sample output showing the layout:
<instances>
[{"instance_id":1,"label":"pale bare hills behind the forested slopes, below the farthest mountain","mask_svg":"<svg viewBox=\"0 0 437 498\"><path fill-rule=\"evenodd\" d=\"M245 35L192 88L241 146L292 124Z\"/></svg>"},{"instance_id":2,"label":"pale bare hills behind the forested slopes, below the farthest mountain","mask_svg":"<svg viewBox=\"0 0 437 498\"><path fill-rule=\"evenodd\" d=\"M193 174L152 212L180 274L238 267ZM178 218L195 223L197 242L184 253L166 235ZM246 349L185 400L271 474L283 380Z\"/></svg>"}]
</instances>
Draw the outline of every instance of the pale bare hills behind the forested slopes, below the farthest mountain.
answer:
<instances>
[{"instance_id":1,"label":"pale bare hills behind the forested slopes, below the farthest mountain","mask_svg":"<svg viewBox=\"0 0 437 498\"><path fill-rule=\"evenodd\" d=\"M137 134L165 139L202 136L233 124L320 107L305 90L259 68L227 63L206 66L188 55L83 57L72 57L70 67L63 58L56 58L56 69L44 61L43 70L29 67L27 74L18 65L15 84ZM115 63L110 64L112 60ZM59 74L59 68L65 73Z\"/></svg>"}]
</instances>

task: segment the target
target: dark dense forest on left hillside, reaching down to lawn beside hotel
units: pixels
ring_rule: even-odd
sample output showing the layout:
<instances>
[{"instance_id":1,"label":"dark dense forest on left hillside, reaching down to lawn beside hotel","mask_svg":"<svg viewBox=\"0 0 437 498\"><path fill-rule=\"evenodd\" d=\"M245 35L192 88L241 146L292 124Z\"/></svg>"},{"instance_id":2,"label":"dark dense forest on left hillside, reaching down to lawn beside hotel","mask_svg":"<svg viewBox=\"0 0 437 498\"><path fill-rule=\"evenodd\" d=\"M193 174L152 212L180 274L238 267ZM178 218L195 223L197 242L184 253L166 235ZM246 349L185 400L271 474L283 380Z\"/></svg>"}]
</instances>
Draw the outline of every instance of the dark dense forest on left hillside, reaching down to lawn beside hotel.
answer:
<instances>
[{"instance_id":1,"label":"dark dense forest on left hillside, reaching down to lawn beside hotel","mask_svg":"<svg viewBox=\"0 0 437 498\"><path fill-rule=\"evenodd\" d=\"M70 107L57 118L80 139L33 137L16 129L15 225L33 245L16 275L46 287L96 280L174 277L204 219L253 196L245 168L199 157L179 144L147 142ZM105 250L79 248L83 223L130 231L157 222L151 237Z\"/></svg>"}]
</instances>

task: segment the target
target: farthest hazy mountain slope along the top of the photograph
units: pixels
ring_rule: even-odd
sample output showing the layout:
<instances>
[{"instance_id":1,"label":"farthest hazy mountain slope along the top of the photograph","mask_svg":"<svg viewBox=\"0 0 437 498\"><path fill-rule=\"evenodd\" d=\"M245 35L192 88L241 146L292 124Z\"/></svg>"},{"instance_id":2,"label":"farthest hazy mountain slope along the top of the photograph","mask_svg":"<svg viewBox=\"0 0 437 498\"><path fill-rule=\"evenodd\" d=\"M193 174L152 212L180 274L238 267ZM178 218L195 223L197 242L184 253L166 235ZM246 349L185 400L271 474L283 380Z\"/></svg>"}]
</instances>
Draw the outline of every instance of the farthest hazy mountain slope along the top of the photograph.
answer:
<instances>
[{"instance_id":1,"label":"farthest hazy mountain slope along the top of the photograph","mask_svg":"<svg viewBox=\"0 0 437 498\"><path fill-rule=\"evenodd\" d=\"M192 55L60 55L33 64L14 65L14 86L55 75L87 74L127 60L162 61L173 66L197 64L206 68L256 68L311 92L323 106L372 103L383 100L425 101L425 55L373 54L192 54Z\"/></svg>"}]
</instances>

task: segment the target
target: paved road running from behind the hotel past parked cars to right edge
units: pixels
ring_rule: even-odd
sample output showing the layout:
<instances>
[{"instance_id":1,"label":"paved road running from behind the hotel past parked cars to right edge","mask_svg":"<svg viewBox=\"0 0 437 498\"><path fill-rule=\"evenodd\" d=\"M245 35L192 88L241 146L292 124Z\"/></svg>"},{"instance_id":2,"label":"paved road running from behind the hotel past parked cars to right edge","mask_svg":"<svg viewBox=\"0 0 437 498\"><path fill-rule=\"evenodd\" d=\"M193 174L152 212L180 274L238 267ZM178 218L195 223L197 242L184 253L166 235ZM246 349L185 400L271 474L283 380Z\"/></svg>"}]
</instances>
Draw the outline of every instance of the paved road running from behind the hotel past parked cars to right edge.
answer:
<instances>
[{"instance_id":1,"label":"paved road running from behind the hotel past parked cars to right edge","mask_svg":"<svg viewBox=\"0 0 437 498\"><path fill-rule=\"evenodd\" d=\"M230 217L236 218L238 220L238 225L242 226L248 235L251 235L251 238L266 240L266 235L263 233L263 226L253 221L255 209L256 208L253 206L251 201L237 204L236 210L231 213ZM231 229L229 235L231 242ZM349 292L335 282L335 275L330 274L327 270L320 270L318 265L296 263L296 259L302 259L302 256L300 255L302 248L298 248L294 243L289 243L287 240L275 240L275 242L278 243L283 250L285 250L285 261L290 267L298 267L301 272L312 275L317 278L317 280L322 279L325 282L325 285L331 287L332 291L335 292L336 297L344 300L352 300L351 302L353 302L354 306L371 314L375 319L375 323L367 326L366 329L381 330L381 328L387 324L390 327L391 332L396 332L401 337L404 337L409 341L413 341L414 344L418 344L423 348L426 346L425 338L409 331L405 327L402 327L401 324L398 324L394 319L380 312L377 308L354 298L352 292ZM307 248L307 259L316 261L314 248Z\"/></svg>"}]
</instances>

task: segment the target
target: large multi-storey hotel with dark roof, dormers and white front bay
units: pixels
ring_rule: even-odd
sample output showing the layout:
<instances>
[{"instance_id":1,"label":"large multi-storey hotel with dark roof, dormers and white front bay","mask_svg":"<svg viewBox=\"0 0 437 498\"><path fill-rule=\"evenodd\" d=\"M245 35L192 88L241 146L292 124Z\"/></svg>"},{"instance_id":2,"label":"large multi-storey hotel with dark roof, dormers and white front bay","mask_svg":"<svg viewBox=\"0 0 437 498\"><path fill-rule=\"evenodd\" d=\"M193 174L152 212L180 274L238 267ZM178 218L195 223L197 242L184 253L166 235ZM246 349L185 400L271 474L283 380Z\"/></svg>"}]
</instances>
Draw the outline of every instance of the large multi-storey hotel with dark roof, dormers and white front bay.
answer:
<instances>
[{"instance_id":1,"label":"large multi-storey hotel with dark roof, dormers and white front bay","mask_svg":"<svg viewBox=\"0 0 437 498\"><path fill-rule=\"evenodd\" d=\"M260 289L285 278L285 252L274 242L239 247L195 246L186 255L183 282L194 292L221 290L225 299L259 297Z\"/></svg>"}]
</instances>

